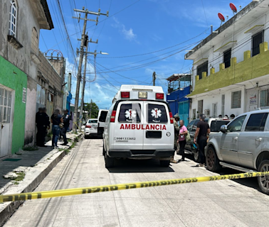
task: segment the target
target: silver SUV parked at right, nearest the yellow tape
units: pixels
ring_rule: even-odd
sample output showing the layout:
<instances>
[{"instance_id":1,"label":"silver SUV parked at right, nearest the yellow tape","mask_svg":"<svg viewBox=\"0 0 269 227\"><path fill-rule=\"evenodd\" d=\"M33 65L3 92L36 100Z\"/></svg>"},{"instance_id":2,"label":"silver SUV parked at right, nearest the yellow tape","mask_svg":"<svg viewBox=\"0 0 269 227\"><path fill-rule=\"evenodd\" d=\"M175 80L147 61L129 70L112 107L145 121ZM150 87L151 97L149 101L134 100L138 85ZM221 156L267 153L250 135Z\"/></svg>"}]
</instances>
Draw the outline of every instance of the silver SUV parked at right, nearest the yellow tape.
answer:
<instances>
[{"instance_id":1,"label":"silver SUV parked at right, nearest the yellow tape","mask_svg":"<svg viewBox=\"0 0 269 227\"><path fill-rule=\"evenodd\" d=\"M211 135L206 150L208 170L229 167L242 172L269 170L269 110L241 114L221 132ZM258 177L260 190L269 194L269 177Z\"/></svg>"}]
</instances>

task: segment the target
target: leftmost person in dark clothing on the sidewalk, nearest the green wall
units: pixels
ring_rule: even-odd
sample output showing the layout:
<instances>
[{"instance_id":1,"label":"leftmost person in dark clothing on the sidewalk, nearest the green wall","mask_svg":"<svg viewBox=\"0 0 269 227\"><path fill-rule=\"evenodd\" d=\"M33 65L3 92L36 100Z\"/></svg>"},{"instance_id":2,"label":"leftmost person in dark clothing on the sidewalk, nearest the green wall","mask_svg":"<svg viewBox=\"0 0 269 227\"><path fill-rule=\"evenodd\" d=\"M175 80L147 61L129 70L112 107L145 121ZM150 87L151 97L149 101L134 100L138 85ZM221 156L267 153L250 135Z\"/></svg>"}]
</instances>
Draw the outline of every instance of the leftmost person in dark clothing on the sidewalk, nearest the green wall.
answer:
<instances>
[{"instance_id":1,"label":"leftmost person in dark clothing on the sidewalk, nearest the green wall","mask_svg":"<svg viewBox=\"0 0 269 227\"><path fill-rule=\"evenodd\" d=\"M47 130L46 114L41 107L38 108L38 112L36 113L36 128L38 130L36 133L36 145L38 147L46 147L44 145Z\"/></svg>"}]
</instances>

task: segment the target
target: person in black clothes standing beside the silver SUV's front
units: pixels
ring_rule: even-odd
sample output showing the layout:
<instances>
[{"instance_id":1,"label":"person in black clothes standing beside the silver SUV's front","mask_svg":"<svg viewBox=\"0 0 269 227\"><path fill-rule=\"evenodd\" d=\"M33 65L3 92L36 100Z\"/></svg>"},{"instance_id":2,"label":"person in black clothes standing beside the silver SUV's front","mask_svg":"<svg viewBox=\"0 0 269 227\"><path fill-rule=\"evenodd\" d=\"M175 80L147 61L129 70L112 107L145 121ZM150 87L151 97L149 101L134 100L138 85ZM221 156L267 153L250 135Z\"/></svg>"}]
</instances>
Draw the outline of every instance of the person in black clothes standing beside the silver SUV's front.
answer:
<instances>
[{"instance_id":1,"label":"person in black clothes standing beside the silver SUV's front","mask_svg":"<svg viewBox=\"0 0 269 227\"><path fill-rule=\"evenodd\" d=\"M199 144L199 158L200 164L199 166L205 165L205 155L204 155L204 148L206 147L207 143L207 135L210 133L209 124L204 121L206 116L204 114L200 114L199 116L200 121L197 123L196 132L194 135L194 143Z\"/></svg>"}]
</instances>

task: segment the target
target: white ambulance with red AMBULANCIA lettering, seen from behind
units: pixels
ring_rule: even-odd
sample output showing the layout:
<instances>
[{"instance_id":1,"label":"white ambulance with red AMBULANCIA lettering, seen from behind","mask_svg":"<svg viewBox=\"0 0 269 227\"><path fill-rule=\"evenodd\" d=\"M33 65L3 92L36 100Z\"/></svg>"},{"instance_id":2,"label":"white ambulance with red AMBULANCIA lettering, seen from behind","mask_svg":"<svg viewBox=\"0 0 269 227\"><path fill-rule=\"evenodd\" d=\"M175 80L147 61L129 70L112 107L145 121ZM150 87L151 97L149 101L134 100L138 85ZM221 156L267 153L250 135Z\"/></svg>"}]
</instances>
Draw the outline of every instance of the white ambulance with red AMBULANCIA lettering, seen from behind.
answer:
<instances>
[{"instance_id":1,"label":"white ambulance with red AMBULANCIA lettering, seen from behind","mask_svg":"<svg viewBox=\"0 0 269 227\"><path fill-rule=\"evenodd\" d=\"M174 123L162 87L122 85L112 101L103 134L105 167L115 158L160 160L174 155Z\"/></svg>"}]
</instances>

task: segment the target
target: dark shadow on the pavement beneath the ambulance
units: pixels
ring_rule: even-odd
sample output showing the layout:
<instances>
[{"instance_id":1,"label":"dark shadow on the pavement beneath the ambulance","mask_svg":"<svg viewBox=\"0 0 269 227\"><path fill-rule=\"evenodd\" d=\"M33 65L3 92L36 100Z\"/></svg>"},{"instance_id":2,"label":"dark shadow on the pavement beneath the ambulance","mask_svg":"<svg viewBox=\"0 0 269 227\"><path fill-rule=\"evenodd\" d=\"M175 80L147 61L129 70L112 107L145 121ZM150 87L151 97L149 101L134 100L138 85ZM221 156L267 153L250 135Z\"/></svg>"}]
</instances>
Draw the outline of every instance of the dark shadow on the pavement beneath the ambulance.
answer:
<instances>
[{"instance_id":1,"label":"dark shadow on the pavement beneath the ambulance","mask_svg":"<svg viewBox=\"0 0 269 227\"><path fill-rule=\"evenodd\" d=\"M109 172L174 172L172 167L161 167L159 160L116 160L115 167L108 168Z\"/></svg>"}]
</instances>

